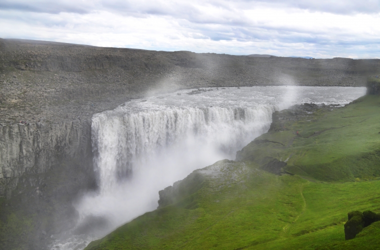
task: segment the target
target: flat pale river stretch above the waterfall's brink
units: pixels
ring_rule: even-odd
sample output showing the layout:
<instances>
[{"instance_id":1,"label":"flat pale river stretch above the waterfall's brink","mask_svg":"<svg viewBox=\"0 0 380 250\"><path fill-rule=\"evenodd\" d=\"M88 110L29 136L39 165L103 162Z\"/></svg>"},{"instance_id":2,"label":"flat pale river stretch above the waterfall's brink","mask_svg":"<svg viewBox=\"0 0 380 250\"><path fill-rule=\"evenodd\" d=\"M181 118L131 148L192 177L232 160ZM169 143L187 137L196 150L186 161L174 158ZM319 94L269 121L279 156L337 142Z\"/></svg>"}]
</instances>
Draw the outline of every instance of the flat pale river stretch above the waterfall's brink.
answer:
<instances>
[{"instance_id":1,"label":"flat pale river stretch above the waterfall's brink","mask_svg":"<svg viewBox=\"0 0 380 250\"><path fill-rule=\"evenodd\" d=\"M364 95L365 91L365 87L335 86L252 86L184 89L143 99L133 99L121 104L112 112L141 112L163 110L168 107L252 107L256 105L277 105L283 109L289 105L305 102L344 105ZM105 111L105 113L108 112ZM111 114L114 114L112 112ZM99 114L94 116L96 117Z\"/></svg>"}]
</instances>

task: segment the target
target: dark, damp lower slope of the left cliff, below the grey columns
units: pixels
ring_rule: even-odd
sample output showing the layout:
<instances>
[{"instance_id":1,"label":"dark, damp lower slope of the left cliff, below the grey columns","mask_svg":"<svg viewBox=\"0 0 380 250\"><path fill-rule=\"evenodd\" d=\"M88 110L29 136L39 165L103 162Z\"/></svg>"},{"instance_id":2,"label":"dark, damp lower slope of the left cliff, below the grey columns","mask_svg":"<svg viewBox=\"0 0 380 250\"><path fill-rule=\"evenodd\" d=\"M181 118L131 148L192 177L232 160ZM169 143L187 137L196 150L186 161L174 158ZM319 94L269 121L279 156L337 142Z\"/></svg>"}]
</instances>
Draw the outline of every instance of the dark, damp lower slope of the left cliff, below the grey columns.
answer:
<instances>
[{"instance_id":1,"label":"dark, damp lower slope of the left cliff, below the grey columns","mask_svg":"<svg viewBox=\"0 0 380 250\"><path fill-rule=\"evenodd\" d=\"M44 173L24 172L10 198L0 199L0 248L49 249L55 235L76 225L72 202L94 189L91 160L62 160Z\"/></svg>"}]
</instances>

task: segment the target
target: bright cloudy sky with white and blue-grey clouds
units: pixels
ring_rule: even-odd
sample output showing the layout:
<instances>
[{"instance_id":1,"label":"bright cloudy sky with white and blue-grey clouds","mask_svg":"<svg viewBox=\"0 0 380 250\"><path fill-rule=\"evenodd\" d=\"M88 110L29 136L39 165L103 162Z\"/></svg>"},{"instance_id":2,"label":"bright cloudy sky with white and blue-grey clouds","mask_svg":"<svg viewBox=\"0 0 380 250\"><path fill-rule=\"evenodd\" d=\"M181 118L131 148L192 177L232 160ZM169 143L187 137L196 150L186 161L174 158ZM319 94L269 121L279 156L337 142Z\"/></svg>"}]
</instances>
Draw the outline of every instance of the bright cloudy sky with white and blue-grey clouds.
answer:
<instances>
[{"instance_id":1,"label":"bright cloudy sky with white and blue-grey clouds","mask_svg":"<svg viewBox=\"0 0 380 250\"><path fill-rule=\"evenodd\" d=\"M380 58L380 0L0 0L0 37Z\"/></svg>"}]
</instances>

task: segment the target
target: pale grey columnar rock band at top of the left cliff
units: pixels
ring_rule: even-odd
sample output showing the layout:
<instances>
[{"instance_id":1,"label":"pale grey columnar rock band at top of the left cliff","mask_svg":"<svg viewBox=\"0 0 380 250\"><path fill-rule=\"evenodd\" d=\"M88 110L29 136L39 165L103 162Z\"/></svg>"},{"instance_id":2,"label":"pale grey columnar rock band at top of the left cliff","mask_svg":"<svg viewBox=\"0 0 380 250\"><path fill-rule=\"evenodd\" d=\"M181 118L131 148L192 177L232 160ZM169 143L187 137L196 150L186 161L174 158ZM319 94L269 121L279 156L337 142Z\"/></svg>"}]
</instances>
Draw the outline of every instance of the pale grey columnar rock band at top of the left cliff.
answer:
<instances>
[{"instance_id":1,"label":"pale grey columnar rock band at top of the left cliff","mask_svg":"<svg viewBox=\"0 0 380 250\"><path fill-rule=\"evenodd\" d=\"M89 122L43 121L0 126L0 197L26 173L43 173L63 158L91 158Z\"/></svg>"}]
</instances>

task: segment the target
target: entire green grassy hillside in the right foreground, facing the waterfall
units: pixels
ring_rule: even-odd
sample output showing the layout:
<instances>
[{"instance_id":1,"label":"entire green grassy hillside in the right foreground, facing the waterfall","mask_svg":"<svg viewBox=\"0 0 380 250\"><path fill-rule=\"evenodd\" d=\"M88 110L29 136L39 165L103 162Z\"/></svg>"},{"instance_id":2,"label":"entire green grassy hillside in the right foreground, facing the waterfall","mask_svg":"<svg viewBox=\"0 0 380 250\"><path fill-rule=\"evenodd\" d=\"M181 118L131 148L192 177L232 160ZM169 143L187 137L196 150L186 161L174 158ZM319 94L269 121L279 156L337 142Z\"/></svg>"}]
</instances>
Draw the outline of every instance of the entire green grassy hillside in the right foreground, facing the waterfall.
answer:
<instances>
[{"instance_id":1,"label":"entire green grassy hillside in the right foreground, facing the waterfall","mask_svg":"<svg viewBox=\"0 0 380 250\"><path fill-rule=\"evenodd\" d=\"M86 249L378 249L378 222L347 241L343 224L351 210L380 210L379 121L378 96L278 120L244 147L241 161L195 170L200 189ZM260 169L273 158L288 159L295 175Z\"/></svg>"}]
</instances>

